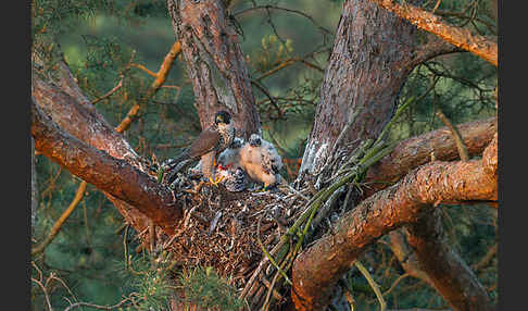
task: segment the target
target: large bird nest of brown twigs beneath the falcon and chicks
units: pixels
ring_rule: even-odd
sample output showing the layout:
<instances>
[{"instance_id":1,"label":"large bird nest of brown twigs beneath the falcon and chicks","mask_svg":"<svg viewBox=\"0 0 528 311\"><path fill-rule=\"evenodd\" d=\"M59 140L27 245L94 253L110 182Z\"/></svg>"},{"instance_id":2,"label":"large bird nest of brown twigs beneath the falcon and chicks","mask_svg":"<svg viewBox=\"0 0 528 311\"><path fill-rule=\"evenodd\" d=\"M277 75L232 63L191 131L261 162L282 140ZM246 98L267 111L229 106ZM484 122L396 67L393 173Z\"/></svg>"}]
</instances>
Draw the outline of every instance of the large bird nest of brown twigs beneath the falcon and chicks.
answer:
<instances>
[{"instance_id":1,"label":"large bird nest of brown twigs beneath the falcon and chicks","mask_svg":"<svg viewBox=\"0 0 528 311\"><path fill-rule=\"evenodd\" d=\"M274 254L272 249L292 225L306 197L286 186L232 192L223 184L214 186L191 175L179 178L174 192L183 202L184 216L176 234L160 240L163 248L171 250L177 266L212 266L241 296L255 300L250 304L262 303L261 296L269 286L266 274L277 272L265 252ZM256 294L259 299L250 298Z\"/></svg>"}]
</instances>

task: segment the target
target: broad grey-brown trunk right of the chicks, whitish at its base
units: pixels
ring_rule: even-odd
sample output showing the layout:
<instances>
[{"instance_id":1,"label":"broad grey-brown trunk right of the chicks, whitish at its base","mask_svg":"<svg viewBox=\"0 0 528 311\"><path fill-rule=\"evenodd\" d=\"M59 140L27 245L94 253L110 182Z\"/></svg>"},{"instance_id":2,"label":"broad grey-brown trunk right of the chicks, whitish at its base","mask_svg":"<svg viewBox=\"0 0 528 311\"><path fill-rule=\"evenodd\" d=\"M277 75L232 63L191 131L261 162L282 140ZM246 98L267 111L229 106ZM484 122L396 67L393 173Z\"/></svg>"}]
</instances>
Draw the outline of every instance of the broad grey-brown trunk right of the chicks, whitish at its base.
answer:
<instances>
[{"instance_id":1,"label":"broad grey-brown trunk right of the chicks, whitish at its base","mask_svg":"<svg viewBox=\"0 0 528 311\"><path fill-rule=\"evenodd\" d=\"M415 33L413 25L375 3L344 2L301 172L314 173L324 164L359 109L339 147L379 135L413 69Z\"/></svg>"}]
</instances>

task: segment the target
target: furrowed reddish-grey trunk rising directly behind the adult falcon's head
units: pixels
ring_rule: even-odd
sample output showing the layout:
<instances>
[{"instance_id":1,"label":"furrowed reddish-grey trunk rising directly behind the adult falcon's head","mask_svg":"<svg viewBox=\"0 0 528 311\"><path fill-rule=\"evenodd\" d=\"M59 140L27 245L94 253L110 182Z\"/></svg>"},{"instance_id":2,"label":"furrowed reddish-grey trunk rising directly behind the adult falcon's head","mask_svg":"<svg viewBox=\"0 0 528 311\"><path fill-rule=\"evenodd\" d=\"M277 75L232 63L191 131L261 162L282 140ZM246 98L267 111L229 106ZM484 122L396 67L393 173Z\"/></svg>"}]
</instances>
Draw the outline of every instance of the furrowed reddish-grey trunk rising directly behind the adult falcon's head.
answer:
<instances>
[{"instance_id":1,"label":"furrowed reddish-grey trunk rising directly behind the adult falcon's head","mask_svg":"<svg viewBox=\"0 0 528 311\"><path fill-rule=\"evenodd\" d=\"M261 125L244 57L225 5L222 0L167 1L202 128L211 125L216 111L228 110L237 135L249 138Z\"/></svg>"}]
</instances>

